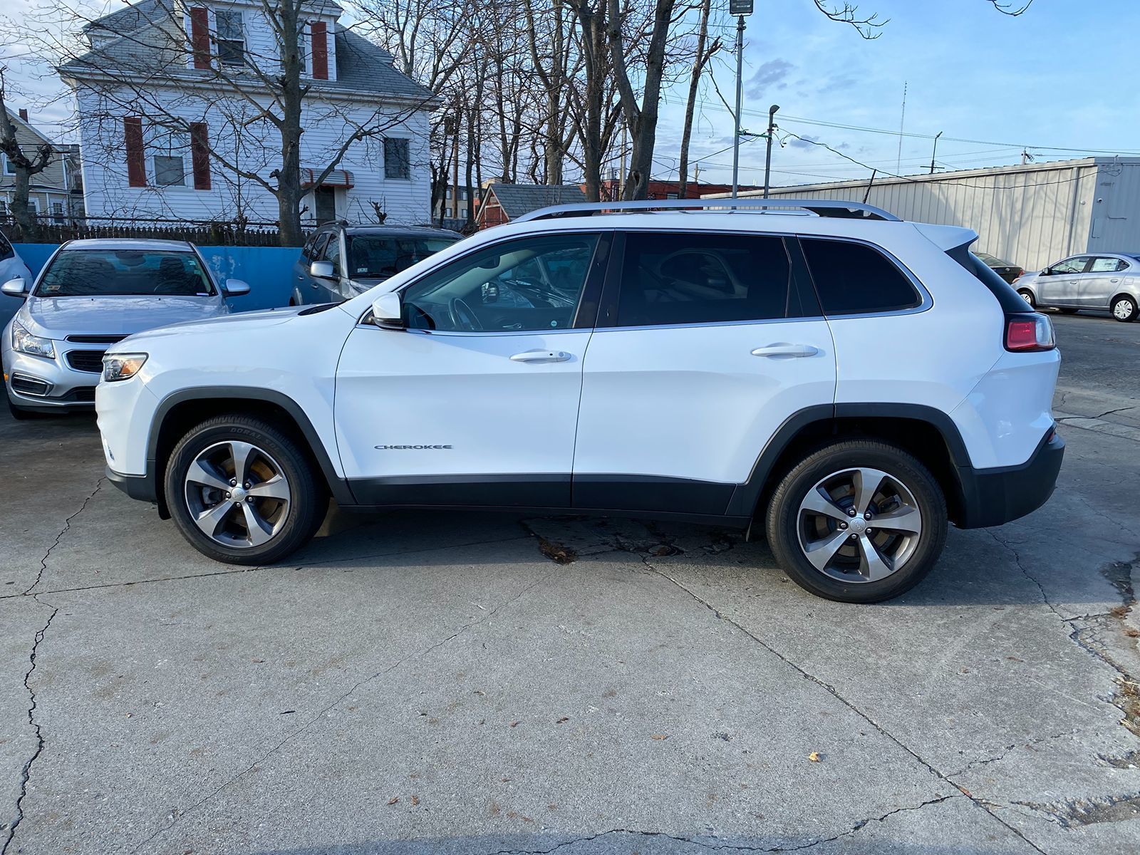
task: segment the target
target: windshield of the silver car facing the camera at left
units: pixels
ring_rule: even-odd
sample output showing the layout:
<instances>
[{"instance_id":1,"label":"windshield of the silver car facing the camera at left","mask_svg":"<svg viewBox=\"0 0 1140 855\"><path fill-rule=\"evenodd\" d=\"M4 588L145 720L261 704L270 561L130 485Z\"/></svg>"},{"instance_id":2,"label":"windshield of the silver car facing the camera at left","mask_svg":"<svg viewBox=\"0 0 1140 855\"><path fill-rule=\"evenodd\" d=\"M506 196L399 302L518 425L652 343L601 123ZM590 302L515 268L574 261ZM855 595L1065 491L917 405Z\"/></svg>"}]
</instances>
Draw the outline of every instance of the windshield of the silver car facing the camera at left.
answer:
<instances>
[{"instance_id":1,"label":"windshield of the silver car facing the camera at left","mask_svg":"<svg viewBox=\"0 0 1140 855\"><path fill-rule=\"evenodd\" d=\"M64 250L56 253L36 296L212 296L213 284L193 252Z\"/></svg>"}]
</instances>

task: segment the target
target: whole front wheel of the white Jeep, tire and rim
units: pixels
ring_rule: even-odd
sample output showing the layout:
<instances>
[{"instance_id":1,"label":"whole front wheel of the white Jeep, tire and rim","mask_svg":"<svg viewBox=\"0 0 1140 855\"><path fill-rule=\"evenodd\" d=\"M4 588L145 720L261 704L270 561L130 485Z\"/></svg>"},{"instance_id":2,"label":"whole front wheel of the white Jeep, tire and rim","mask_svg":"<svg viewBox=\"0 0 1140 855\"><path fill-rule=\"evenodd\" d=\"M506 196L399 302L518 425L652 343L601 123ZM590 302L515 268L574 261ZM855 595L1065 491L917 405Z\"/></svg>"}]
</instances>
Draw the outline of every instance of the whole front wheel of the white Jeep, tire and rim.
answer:
<instances>
[{"instance_id":1,"label":"whole front wheel of the white Jeep, tire and rim","mask_svg":"<svg viewBox=\"0 0 1140 855\"><path fill-rule=\"evenodd\" d=\"M328 498L287 435L256 418L212 418L187 433L166 466L166 503L198 552L231 564L268 564L303 546Z\"/></svg>"}]
</instances>

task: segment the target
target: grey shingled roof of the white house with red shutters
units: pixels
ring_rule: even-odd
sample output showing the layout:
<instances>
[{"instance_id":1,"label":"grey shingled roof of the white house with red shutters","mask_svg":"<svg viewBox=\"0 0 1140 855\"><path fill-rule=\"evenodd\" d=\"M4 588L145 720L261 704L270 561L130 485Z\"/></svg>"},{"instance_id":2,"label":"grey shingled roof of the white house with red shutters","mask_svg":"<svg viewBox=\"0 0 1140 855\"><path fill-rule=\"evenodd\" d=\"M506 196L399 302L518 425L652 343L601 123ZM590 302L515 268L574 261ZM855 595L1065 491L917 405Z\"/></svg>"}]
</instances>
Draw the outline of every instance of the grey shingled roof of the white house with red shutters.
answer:
<instances>
[{"instance_id":1,"label":"grey shingled roof of the white house with red shutters","mask_svg":"<svg viewBox=\"0 0 1140 855\"><path fill-rule=\"evenodd\" d=\"M83 27L84 32L100 32L112 36L125 36L145 26L169 26L169 0L140 0L125 9L119 9L98 18ZM340 7L331 0L315 0L312 6L339 11ZM392 55L364 36L337 25L334 30L336 40L336 80L315 81L317 89L344 91L363 91L391 95L401 98L427 100L433 98L431 90L420 85L412 78L400 73L392 66ZM180 66L171 67L170 56L162 56L161 50L168 44L160 41L152 48L144 47L145 39L116 39L65 63L62 71L82 78L84 71L98 71L112 67L119 72L144 74L156 64L164 65L164 73L173 79L193 80L201 76L192 70Z\"/></svg>"}]
</instances>

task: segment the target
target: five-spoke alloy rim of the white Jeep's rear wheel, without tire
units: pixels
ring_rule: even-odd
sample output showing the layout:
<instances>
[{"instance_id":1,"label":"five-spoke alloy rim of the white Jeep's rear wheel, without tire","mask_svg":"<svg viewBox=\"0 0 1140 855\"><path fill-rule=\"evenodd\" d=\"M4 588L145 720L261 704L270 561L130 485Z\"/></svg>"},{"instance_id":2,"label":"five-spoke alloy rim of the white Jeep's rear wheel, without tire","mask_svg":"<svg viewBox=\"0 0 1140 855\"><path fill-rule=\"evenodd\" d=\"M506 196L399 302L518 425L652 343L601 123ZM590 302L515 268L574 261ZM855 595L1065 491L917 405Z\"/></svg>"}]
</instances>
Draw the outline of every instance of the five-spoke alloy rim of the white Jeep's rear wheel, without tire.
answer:
<instances>
[{"instance_id":1,"label":"five-spoke alloy rim of the white Jeep's rear wheel, without tire","mask_svg":"<svg viewBox=\"0 0 1140 855\"><path fill-rule=\"evenodd\" d=\"M922 512L902 480L857 466L833 472L807 491L796 530L804 556L821 573L868 584L898 572L914 556Z\"/></svg>"}]
</instances>

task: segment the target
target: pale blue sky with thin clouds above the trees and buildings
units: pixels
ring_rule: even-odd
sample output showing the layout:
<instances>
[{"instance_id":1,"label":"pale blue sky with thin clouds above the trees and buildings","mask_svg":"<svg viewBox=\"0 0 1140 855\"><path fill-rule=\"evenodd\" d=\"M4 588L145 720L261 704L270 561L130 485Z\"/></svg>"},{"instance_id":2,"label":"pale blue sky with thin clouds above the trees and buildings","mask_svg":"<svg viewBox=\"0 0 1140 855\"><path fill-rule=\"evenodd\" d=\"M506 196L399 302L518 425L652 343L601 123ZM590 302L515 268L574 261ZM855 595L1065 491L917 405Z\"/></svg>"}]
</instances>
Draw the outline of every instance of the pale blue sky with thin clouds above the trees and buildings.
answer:
<instances>
[{"instance_id":1,"label":"pale blue sky with thin clouds above the trees and buildings","mask_svg":"<svg viewBox=\"0 0 1140 855\"><path fill-rule=\"evenodd\" d=\"M18 16L41 2L5 0L5 14ZM986 0L860 0L861 11L888 22L873 41L829 21L812 0L755 6L746 18L742 127L763 131L768 106L780 105L773 185L866 179L871 169L928 172L939 131L939 171L1018 163L1023 150L1036 161L1140 155L1130 35L1140 30L1140 3L1133 0L1034 0L1019 17L999 14ZM726 47L714 75L732 103L735 19L722 11L715 34ZM36 64L13 71L35 122L62 135L68 105L51 103L62 93L58 80ZM903 130L913 136L902 137L899 156L904 84ZM676 176L685 89L682 83L666 93L654 178ZM706 83L691 154L702 181L731 181L732 130L731 113ZM763 184L763 139L741 145L740 180Z\"/></svg>"}]
</instances>

